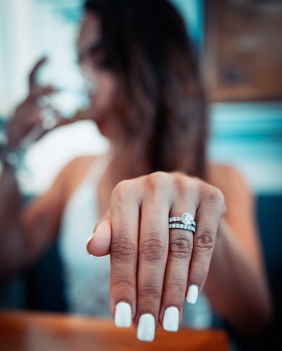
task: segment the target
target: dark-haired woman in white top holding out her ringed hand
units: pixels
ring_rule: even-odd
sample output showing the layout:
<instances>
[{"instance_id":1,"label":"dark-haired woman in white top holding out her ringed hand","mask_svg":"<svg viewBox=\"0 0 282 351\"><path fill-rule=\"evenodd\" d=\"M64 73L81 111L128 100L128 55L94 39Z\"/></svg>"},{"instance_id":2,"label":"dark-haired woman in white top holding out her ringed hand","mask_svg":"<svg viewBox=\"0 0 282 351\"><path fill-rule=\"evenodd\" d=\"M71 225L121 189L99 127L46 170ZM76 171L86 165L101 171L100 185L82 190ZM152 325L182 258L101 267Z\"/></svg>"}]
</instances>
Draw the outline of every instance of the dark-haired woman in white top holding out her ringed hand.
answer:
<instances>
[{"instance_id":1,"label":"dark-haired woman in white top holding out her ringed hand","mask_svg":"<svg viewBox=\"0 0 282 351\"><path fill-rule=\"evenodd\" d=\"M116 325L133 320L140 340L153 340L158 322L168 331L182 319L191 325L183 300L195 304L201 292L203 316L210 306L257 333L271 303L252 196L238 172L206 159L204 94L183 20L166 0L86 1L78 54L111 150L70 162L24 209L9 202L18 191L4 167L2 270L25 266L57 239L69 311L107 314L110 280ZM13 145L18 134L10 130Z\"/></svg>"}]
</instances>

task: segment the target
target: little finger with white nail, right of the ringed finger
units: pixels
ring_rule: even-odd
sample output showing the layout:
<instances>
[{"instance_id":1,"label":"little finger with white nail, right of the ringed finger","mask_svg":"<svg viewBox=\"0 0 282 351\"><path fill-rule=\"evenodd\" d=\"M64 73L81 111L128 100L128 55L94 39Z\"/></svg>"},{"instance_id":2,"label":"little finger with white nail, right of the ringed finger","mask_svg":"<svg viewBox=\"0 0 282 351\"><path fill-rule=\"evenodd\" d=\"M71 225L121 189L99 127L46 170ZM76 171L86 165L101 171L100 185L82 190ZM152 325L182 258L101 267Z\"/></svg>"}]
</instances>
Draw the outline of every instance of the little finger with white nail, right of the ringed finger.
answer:
<instances>
[{"instance_id":1,"label":"little finger with white nail, right of the ringed finger","mask_svg":"<svg viewBox=\"0 0 282 351\"><path fill-rule=\"evenodd\" d=\"M219 219L223 214L224 199L221 191L205 186L197 208L197 230L194 235L192 259L188 275L187 301L194 304L207 280L209 265L214 251Z\"/></svg>"}]
</instances>

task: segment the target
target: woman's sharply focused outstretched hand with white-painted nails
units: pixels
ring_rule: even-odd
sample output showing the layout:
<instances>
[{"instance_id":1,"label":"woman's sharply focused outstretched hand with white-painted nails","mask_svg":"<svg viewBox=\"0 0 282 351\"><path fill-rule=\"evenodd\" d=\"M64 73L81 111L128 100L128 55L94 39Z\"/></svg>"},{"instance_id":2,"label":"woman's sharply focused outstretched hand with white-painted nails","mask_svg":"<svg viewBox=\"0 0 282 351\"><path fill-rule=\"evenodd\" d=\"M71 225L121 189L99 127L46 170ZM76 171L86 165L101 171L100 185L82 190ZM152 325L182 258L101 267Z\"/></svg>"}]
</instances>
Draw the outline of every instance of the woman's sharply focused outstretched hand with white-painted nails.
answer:
<instances>
[{"instance_id":1,"label":"woman's sharply focused outstretched hand with white-painted nails","mask_svg":"<svg viewBox=\"0 0 282 351\"><path fill-rule=\"evenodd\" d=\"M186 212L197 222L195 234L168 228L169 217ZM111 254L111 311L118 326L133 319L137 338L147 341L158 322L177 331L183 300L195 303L204 287L224 212L219 189L178 172L116 186L87 249L95 256Z\"/></svg>"}]
</instances>

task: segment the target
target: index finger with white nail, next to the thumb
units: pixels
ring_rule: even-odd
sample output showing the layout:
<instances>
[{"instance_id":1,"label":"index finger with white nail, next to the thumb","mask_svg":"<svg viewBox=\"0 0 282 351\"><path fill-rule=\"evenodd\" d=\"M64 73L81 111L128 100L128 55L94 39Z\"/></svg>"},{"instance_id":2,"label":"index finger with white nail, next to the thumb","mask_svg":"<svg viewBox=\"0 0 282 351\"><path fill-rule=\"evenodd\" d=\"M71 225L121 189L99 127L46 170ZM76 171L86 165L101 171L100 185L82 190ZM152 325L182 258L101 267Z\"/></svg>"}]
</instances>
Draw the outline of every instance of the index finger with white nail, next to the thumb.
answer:
<instances>
[{"instance_id":1,"label":"index finger with white nail, next to the thumb","mask_svg":"<svg viewBox=\"0 0 282 351\"><path fill-rule=\"evenodd\" d=\"M121 182L111 195L111 312L118 326L122 303L127 311L125 323L131 324L136 310L137 254L140 204L137 189L132 189L130 181ZM122 306L123 306L122 305ZM117 309L116 309L117 307Z\"/></svg>"}]
</instances>

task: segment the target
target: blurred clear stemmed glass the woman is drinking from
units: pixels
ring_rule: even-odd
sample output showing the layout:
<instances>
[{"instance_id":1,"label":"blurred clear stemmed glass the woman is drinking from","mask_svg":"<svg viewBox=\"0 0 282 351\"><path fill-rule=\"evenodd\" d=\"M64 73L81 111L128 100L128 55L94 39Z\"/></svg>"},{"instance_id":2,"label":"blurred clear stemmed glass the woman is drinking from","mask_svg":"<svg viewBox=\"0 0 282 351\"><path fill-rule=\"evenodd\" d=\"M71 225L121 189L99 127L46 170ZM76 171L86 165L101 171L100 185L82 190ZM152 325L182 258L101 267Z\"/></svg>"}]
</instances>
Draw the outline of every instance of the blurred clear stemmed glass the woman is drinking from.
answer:
<instances>
[{"instance_id":1,"label":"blurred clear stemmed glass the woman is drinking from","mask_svg":"<svg viewBox=\"0 0 282 351\"><path fill-rule=\"evenodd\" d=\"M51 85L55 91L37 99L41 108L40 121L20 141L20 148L27 150L42 134L57 125L89 117L89 94L96 88L93 79L90 83L87 78L89 75L90 70L85 64L78 67L56 59L48 59L39 67L35 77L37 85Z\"/></svg>"}]
</instances>

